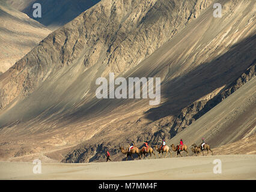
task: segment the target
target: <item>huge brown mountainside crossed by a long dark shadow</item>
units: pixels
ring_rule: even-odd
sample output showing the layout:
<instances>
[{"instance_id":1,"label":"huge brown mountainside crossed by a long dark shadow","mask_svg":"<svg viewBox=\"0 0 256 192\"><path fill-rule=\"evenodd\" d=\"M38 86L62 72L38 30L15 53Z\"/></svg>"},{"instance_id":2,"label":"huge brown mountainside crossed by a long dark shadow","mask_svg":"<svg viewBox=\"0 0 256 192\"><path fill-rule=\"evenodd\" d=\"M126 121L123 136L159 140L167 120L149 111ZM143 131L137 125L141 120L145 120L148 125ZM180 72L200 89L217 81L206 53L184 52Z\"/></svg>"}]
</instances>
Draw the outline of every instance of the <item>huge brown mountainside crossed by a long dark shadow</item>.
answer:
<instances>
[{"instance_id":1,"label":"huge brown mountainside crossed by a long dark shadow","mask_svg":"<svg viewBox=\"0 0 256 192\"><path fill-rule=\"evenodd\" d=\"M255 111L255 4L218 1L222 17L215 18L213 2L103 0L50 34L0 76L1 157L41 152L88 162L131 140L139 146L179 138L248 83L245 99ZM96 79L109 72L160 77L161 103L97 99ZM251 131L254 114L243 133L234 127L232 142ZM201 135L186 137L191 143ZM207 137L214 147L228 142L217 138Z\"/></svg>"}]
</instances>

